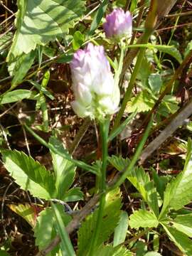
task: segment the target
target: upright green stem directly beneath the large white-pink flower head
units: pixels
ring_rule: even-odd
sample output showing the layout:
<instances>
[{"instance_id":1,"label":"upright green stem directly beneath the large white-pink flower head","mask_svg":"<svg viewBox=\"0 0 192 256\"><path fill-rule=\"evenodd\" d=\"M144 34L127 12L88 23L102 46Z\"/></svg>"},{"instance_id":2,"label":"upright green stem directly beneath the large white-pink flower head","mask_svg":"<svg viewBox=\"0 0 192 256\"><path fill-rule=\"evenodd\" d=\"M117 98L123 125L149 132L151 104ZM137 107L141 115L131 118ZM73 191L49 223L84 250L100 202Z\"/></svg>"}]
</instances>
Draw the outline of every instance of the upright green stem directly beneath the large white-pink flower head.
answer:
<instances>
[{"instance_id":1,"label":"upright green stem directly beneath the large white-pink flower head","mask_svg":"<svg viewBox=\"0 0 192 256\"><path fill-rule=\"evenodd\" d=\"M106 196L106 169L107 169L107 139L109 133L110 120L106 119L104 122L100 122L100 136L102 139L102 174L100 176L100 206L97 214L97 222L95 225L94 233L92 234L89 256L93 255L95 247L97 246L97 240L102 228L102 215L105 208L105 196Z\"/></svg>"}]
</instances>

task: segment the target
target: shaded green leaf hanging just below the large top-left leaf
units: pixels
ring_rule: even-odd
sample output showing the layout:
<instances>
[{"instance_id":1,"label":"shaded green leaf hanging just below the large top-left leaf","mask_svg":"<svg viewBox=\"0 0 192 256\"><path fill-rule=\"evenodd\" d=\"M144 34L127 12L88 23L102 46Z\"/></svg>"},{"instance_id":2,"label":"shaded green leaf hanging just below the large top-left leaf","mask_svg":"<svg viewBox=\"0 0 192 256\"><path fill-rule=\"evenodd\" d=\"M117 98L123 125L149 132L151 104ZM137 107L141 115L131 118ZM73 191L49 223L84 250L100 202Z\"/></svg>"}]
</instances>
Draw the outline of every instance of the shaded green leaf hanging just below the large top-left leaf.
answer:
<instances>
[{"instance_id":1,"label":"shaded green leaf hanging just below the large top-left leaf","mask_svg":"<svg viewBox=\"0 0 192 256\"><path fill-rule=\"evenodd\" d=\"M13 55L9 52L8 61L8 70L10 75L14 75L13 80L11 81L11 87L16 87L16 85L20 84L23 78L28 73L28 70L33 65L33 61L36 57L36 51L32 50L30 53L21 55Z\"/></svg>"}]
</instances>

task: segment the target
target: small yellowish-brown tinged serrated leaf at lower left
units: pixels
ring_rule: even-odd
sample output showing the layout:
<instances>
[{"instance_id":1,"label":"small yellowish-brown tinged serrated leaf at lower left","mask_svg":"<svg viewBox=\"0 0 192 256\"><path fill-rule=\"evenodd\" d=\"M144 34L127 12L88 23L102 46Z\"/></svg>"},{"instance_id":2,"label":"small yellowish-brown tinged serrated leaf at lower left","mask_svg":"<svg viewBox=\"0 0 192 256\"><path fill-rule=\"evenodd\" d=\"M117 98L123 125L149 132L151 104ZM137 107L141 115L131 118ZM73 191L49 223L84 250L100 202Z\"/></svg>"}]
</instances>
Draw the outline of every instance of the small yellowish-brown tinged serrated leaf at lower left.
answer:
<instances>
[{"instance_id":1,"label":"small yellowish-brown tinged serrated leaf at lower left","mask_svg":"<svg viewBox=\"0 0 192 256\"><path fill-rule=\"evenodd\" d=\"M38 216L38 211L41 209L38 205L31 206L29 203L22 204L19 203L17 206L14 204L9 205L9 208L24 218L31 227L36 225L36 218Z\"/></svg>"}]
</instances>

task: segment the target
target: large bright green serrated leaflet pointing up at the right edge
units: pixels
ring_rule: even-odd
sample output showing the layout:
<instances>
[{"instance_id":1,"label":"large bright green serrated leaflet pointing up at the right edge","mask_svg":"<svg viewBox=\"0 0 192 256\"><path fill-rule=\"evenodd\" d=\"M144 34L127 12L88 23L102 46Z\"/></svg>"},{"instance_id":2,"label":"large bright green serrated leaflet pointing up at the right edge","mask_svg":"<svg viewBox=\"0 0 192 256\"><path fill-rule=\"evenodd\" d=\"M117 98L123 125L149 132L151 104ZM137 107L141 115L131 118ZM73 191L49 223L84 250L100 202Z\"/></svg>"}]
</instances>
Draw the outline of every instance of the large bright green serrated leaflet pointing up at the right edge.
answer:
<instances>
[{"instance_id":1,"label":"large bright green serrated leaflet pointing up at the right edge","mask_svg":"<svg viewBox=\"0 0 192 256\"><path fill-rule=\"evenodd\" d=\"M161 215L169 208L178 210L192 200L192 143L188 139L188 153L183 171L166 186Z\"/></svg>"}]
</instances>

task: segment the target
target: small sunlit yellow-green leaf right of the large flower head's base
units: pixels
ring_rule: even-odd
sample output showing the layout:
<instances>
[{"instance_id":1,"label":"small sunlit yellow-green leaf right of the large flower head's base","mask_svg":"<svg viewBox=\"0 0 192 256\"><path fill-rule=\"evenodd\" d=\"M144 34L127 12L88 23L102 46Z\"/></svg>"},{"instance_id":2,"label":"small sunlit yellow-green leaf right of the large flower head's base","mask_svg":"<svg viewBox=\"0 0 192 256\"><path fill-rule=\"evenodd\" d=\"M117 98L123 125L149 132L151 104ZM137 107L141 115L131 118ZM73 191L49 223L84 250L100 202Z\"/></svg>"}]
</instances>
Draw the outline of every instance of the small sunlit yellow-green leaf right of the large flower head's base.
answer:
<instances>
[{"instance_id":1,"label":"small sunlit yellow-green leaf right of the large flower head's base","mask_svg":"<svg viewBox=\"0 0 192 256\"><path fill-rule=\"evenodd\" d=\"M146 112L151 110L154 106L154 100L148 95L146 91L139 92L136 97L132 97L132 99L127 103L125 111L128 113L132 112Z\"/></svg>"}]
</instances>

